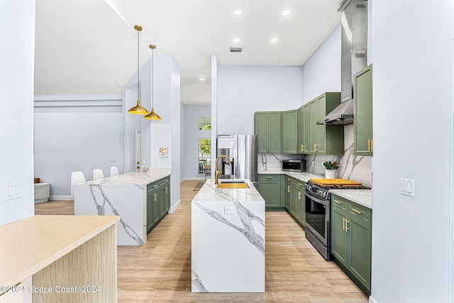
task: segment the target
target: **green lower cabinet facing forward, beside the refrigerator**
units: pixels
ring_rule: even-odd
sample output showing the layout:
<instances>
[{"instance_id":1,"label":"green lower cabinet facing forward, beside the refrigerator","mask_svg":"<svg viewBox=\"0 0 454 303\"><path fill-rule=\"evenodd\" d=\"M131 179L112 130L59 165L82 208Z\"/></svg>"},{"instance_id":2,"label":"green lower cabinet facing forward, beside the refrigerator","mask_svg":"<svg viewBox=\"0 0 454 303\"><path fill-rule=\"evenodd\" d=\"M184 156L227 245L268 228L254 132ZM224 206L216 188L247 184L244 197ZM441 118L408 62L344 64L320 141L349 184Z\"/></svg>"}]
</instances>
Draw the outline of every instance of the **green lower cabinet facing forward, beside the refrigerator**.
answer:
<instances>
[{"instance_id":1,"label":"green lower cabinet facing forward, beside the refrigerator","mask_svg":"<svg viewBox=\"0 0 454 303\"><path fill-rule=\"evenodd\" d=\"M282 184L282 175L260 174L258 176L258 192L265 199L267 210L279 210L285 207Z\"/></svg>"}]
</instances>

